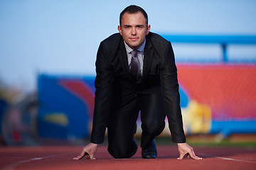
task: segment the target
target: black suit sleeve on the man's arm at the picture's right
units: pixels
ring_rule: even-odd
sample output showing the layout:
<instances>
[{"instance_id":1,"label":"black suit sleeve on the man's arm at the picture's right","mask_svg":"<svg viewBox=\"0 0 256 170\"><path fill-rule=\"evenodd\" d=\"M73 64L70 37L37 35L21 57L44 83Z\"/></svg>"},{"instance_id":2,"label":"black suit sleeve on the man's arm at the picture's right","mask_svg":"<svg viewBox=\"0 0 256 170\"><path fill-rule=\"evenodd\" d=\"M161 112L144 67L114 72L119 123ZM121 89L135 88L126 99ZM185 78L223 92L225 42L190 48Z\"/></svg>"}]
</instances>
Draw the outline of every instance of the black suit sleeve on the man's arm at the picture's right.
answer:
<instances>
[{"instance_id":1,"label":"black suit sleeve on the man's arm at the picture's right","mask_svg":"<svg viewBox=\"0 0 256 170\"><path fill-rule=\"evenodd\" d=\"M186 137L183 131L180 96L178 93L177 68L170 42L159 73L164 107L166 109L172 141L176 143L186 142Z\"/></svg>"}]
</instances>

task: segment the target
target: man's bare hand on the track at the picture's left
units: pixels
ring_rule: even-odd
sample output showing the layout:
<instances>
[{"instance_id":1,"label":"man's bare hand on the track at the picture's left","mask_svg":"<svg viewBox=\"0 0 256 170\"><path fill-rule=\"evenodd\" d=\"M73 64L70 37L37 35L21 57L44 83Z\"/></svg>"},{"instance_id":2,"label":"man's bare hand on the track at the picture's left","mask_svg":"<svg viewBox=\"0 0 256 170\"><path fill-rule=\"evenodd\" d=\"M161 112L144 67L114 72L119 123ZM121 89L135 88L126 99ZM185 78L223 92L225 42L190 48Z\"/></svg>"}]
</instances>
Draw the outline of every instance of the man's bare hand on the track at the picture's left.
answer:
<instances>
[{"instance_id":1,"label":"man's bare hand on the track at the picture's left","mask_svg":"<svg viewBox=\"0 0 256 170\"><path fill-rule=\"evenodd\" d=\"M90 143L86 145L84 148L82 148L82 152L78 157L74 157L73 159L78 160L85 157L85 159L95 159L94 154L97 152L97 144Z\"/></svg>"}]
</instances>

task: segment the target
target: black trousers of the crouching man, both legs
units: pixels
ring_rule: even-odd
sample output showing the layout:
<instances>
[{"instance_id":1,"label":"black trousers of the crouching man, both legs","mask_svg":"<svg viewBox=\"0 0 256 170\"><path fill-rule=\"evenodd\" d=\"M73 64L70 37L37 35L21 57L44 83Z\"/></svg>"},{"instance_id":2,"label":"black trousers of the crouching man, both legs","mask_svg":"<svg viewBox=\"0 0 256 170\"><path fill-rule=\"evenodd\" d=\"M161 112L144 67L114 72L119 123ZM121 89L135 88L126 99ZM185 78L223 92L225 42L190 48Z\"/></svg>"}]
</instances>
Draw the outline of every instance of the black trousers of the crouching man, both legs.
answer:
<instances>
[{"instance_id":1,"label":"black trousers of the crouching man, both legs","mask_svg":"<svg viewBox=\"0 0 256 170\"><path fill-rule=\"evenodd\" d=\"M154 137L164 130L166 113L161 95L137 94L118 98L116 109L110 115L108 132L108 152L114 158L129 158L137 152L134 140L134 126L139 111L142 120L141 147L147 148Z\"/></svg>"}]
</instances>

